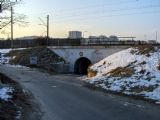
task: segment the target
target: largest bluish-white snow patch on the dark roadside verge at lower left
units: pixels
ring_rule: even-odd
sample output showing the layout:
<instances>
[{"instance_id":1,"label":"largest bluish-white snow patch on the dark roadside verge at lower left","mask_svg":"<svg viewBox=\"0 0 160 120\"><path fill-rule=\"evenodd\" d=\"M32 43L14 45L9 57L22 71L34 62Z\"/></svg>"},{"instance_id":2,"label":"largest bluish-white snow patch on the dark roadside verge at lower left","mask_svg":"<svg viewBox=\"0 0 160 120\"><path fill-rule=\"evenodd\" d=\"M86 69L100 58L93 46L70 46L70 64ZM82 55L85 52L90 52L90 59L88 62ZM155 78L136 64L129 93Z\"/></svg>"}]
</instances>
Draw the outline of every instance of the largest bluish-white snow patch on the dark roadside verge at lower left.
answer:
<instances>
[{"instance_id":1,"label":"largest bluish-white snow patch on the dark roadside verge at lower left","mask_svg":"<svg viewBox=\"0 0 160 120\"><path fill-rule=\"evenodd\" d=\"M11 95L9 95L8 93L12 93L13 89L9 88L9 87L3 87L0 88L0 99L8 101L9 99L12 98Z\"/></svg>"}]
</instances>

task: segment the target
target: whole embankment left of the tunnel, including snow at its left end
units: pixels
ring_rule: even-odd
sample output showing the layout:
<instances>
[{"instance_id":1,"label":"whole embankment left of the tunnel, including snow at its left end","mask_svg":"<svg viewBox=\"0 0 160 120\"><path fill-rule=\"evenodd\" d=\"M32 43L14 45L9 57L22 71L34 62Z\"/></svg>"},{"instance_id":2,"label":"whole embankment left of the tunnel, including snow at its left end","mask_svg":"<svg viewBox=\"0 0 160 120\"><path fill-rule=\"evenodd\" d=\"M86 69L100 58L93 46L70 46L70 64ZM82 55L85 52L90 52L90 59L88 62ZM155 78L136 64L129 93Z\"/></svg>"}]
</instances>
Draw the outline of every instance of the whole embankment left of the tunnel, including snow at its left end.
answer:
<instances>
[{"instance_id":1,"label":"whole embankment left of the tunnel, including snow at its left end","mask_svg":"<svg viewBox=\"0 0 160 120\"><path fill-rule=\"evenodd\" d=\"M16 67L37 67L49 70L50 72L65 72L65 60L45 47L27 49L0 49L0 64L10 64ZM36 63L32 64L31 57L36 57ZM63 68L59 70L59 68Z\"/></svg>"}]
</instances>

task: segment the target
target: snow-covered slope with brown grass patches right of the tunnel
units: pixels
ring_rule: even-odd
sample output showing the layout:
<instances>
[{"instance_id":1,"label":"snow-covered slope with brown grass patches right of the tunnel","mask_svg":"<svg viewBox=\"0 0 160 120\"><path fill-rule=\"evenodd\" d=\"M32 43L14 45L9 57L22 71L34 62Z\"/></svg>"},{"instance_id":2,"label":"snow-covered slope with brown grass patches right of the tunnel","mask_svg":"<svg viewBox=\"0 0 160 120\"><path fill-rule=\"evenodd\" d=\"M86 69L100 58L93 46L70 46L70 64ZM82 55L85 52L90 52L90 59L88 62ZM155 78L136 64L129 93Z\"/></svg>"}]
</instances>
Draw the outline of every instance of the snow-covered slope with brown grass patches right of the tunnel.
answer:
<instances>
[{"instance_id":1,"label":"snow-covered slope with brown grass patches right of the tunnel","mask_svg":"<svg viewBox=\"0 0 160 120\"><path fill-rule=\"evenodd\" d=\"M108 91L160 101L160 49L139 46L115 53L93 65L89 83Z\"/></svg>"}]
</instances>

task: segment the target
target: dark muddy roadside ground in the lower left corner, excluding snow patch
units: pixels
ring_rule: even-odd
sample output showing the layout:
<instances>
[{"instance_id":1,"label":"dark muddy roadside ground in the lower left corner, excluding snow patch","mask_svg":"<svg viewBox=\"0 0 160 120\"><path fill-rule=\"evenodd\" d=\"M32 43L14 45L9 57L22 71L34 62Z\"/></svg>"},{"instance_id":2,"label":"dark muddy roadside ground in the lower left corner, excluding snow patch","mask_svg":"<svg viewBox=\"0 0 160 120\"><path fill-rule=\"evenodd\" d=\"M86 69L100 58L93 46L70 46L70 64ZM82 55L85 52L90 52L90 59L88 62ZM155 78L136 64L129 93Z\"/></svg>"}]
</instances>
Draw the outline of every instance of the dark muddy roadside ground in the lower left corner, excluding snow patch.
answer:
<instances>
[{"instance_id":1,"label":"dark muddy roadside ground in the lower left corner, excluding snow patch","mask_svg":"<svg viewBox=\"0 0 160 120\"><path fill-rule=\"evenodd\" d=\"M40 120L41 111L32 94L7 76L0 74L2 85L14 89L12 99L0 100L0 120Z\"/></svg>"}]
</instances>

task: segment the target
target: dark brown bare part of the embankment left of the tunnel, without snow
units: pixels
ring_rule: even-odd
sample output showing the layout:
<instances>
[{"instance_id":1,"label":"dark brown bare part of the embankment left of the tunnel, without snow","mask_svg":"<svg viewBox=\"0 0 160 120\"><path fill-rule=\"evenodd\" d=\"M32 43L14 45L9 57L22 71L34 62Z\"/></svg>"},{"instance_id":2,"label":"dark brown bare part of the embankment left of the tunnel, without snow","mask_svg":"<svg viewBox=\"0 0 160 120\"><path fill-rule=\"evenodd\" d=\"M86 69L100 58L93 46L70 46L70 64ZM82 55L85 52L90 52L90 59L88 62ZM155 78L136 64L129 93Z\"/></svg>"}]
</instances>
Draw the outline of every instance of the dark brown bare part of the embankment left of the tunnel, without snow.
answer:
<instances>
[{"instance_id":1,"label":"dark brown bare part of the embankment left of the tunnel, without snow","mask_svg":"<svg viewBox=\"0 0 160 120\"><path fill-rule=\"evenodd\" d=\"M29 67L32 66L30 64L30 57L37 57L37 64L34 65L34 67L40 67L47 70L52 70L54 72L56 72L56 69L54 69L52 64L65 63L65 60L63 58L45 47L12 50L7 53L6 56L11 58L9 60L10 64Z\"/></svg>"}]
</instances>

